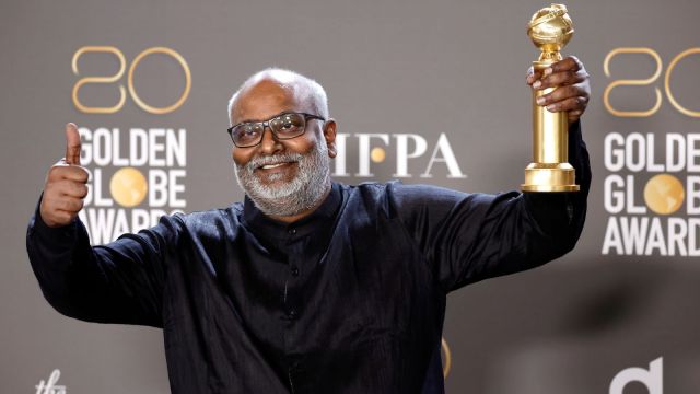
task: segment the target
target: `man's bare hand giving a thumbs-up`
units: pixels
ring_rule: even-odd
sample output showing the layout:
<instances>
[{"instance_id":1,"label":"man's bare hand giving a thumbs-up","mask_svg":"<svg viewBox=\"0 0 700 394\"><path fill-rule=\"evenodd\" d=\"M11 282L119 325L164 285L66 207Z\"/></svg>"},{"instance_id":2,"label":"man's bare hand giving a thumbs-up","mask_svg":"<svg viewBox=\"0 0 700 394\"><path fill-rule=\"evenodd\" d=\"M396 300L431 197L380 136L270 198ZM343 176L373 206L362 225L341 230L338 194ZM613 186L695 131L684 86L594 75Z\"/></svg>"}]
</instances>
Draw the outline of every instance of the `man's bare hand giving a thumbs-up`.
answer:
<instances>
[{"instance_id":1,"label":"man's bare hand giving a thumbs-up","mask_svg":"<svg viewBox=\"0 0 700 394\"><path fill-rule=\"evenodd\" d=\"M46 176L39 212L51 228L70 224L83 208L88 195L88 171L80 166L78 126L66 125L66 158L54 164Z\"/></svg>"}]
</instances>

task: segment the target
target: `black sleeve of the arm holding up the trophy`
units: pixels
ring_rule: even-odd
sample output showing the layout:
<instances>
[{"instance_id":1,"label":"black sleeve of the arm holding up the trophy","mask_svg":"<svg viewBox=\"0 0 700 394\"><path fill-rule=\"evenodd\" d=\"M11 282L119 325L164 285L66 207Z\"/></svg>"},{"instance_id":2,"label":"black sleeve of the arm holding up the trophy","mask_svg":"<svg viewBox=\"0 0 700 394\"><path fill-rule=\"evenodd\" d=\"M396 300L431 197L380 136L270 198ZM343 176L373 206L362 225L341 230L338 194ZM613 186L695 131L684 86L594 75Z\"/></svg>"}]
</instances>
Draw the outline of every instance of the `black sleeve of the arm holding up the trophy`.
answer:
<instances>
[{"instance_id":1,"label":"black sleeve of the arm holding up the trophy","mask_svg":"<svg viewBox=\"0 0 700 394\"><path fill-rule=\"evenodd\" d=\"M574 247L591 185L579 123L570 128L569 162L581 192L487 195L393 184L389 200L447 292L542 265Z\"/></svg>"}]
</instances>

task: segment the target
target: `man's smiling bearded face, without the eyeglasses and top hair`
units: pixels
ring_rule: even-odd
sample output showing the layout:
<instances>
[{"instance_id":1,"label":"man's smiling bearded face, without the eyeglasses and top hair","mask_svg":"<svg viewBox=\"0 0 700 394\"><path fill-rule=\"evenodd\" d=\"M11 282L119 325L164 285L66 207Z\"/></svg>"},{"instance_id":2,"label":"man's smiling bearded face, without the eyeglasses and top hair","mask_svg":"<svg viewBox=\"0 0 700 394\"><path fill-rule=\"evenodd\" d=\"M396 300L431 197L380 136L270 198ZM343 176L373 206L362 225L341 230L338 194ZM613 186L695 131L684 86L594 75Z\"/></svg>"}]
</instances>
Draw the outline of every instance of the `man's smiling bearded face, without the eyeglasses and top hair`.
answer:
<instances>
[{"instance_id":1,"label":"man's smiling bearded face, without the eyeglasses and top hair","mask_svg":"<svg viewBox=\"0 0 700 394\"><path fill-rule=\"evenodd\" d=\"M266 80L241 92L231 118L233 124L262 121L285 112L315 114L310 100L300 100L292 88ZM233 148L236 178L264 212L299 213L317 202L319 194L327 189L334 137L332 120L324 125L323 120L307 119L302 136L280 141L266 128L259 144Z\"/></svg>"}]
</instances>

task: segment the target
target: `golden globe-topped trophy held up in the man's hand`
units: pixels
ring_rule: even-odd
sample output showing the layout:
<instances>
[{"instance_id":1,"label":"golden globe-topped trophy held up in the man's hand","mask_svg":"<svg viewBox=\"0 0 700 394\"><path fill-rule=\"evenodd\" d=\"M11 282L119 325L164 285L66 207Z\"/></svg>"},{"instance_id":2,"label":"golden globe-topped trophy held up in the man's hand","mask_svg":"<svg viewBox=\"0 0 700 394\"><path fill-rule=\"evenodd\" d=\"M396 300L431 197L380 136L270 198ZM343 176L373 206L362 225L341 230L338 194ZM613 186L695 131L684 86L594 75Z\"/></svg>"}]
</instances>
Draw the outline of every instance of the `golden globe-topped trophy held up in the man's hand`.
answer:
<instances>
[{"instance_id":1,"label":"golden globe-topped trophy held up in the man's hand","mask_svg":"<svg viewBox=\"0 0 700 394\"><path fill-rule=\"evenodd\" d=\"M573 35L573 24L563 4L551 4L537 11L527 25L527 35L541 50L533 61L540 73L561 60L559 50ZM533 158L525 167L523 192L578 192L575 171L569 164L569 118L565 112L551 113L537 105L537 97L555 88L533 91Z\"/></svg>"}]
</instances>

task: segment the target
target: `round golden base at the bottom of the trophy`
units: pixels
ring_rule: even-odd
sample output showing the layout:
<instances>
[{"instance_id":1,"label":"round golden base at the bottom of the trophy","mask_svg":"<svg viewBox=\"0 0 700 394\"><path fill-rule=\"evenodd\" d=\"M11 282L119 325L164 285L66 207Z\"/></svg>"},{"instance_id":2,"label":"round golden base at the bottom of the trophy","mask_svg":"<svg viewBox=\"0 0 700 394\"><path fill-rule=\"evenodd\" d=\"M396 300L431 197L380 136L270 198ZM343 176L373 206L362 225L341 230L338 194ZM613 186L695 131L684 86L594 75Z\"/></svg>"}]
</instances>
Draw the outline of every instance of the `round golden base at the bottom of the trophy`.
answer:
<instances>
[{"instance_id":1,"label":"round golden base at the bottom of the trophy","mask_svg":"<svg viewBox=\"0 0 700 394\"><path fill-rule=\"evenodd\" d=\"M569 163L530 163L525 169L523 192L561 193L579 192L574 169Z\"/></svg>"}]
</instances>

